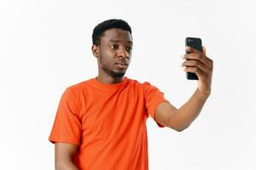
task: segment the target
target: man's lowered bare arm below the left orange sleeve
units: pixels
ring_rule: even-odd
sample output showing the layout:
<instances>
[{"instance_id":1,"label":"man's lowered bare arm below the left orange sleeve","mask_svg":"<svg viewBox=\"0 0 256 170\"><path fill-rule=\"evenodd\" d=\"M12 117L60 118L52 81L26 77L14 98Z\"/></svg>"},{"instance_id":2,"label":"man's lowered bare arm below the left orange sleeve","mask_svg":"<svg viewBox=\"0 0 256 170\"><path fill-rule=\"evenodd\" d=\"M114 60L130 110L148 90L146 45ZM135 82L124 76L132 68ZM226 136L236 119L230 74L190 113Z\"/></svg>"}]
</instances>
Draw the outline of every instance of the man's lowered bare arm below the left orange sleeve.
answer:
<instances>
[{"instance_id":1,"label":"man's lowered bare arm below the left orange sleeve","mask_svg":"<svg viewBox=\"0 0 256 170\"><path fill-rule=\"evenodd\" d=\"M79 170L73 163L77 149L75 144L55 143L55 170Z\"/></svg>"}]
</instances>

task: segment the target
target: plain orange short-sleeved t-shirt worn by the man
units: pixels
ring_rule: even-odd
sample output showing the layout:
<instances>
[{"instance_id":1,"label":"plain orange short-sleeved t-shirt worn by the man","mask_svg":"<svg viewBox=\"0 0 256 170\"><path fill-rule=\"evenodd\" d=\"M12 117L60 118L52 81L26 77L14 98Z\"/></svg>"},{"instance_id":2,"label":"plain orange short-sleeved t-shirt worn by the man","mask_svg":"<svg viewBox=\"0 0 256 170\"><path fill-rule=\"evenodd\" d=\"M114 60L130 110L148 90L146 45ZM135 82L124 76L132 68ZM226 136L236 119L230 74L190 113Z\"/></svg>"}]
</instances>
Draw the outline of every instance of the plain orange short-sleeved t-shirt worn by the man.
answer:
<instances>
[{"instance_id":1,"label":"plain orange short-sleeved t-shirt worn by the man","mask_svg":"<svg viewBox=\"0 0 256 170\"><path fill-rule=\"evenodd\" d=\"M116 84L79 82L62 94L49 141L77 144L80 170L148 170L146 121L165 101L149 82L127 77Z\"/></svg>"}]
</instances>

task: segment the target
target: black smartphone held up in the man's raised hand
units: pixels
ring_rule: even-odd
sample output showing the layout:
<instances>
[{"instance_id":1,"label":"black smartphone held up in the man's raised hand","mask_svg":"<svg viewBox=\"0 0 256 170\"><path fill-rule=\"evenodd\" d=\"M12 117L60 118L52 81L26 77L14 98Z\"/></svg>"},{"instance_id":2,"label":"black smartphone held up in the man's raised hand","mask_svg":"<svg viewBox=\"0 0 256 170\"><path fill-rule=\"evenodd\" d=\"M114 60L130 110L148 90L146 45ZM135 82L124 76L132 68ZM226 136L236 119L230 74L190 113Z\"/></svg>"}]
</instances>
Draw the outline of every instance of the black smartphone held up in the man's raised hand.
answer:
<instances>
[{"instance_id":1,"label":"black smartphone held up in the man's raised hand","mask_svg":"<svg viewBox=\"0 0 256 170\"><path fill-rule=\"evenodd\" d=\"M185 43L186 46L202 51L201 38L199 37L186 37ZM186 51L186 54L189 54L189 52ZM193 72L186 72L186 77L188 80L198 80L198 77Z\"/></svg>"}]
</instances>

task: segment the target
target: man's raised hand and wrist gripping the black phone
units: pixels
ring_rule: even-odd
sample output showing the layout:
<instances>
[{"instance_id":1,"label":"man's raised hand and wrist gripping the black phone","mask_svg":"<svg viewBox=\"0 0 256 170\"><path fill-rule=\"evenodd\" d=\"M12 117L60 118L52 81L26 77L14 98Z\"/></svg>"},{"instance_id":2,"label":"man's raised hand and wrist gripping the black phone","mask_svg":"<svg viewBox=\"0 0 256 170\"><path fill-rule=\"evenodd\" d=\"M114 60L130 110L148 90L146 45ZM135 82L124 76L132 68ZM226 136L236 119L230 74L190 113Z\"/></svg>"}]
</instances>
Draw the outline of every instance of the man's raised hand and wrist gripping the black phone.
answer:
<instances>
[{"instance_id":1,"label":"man's raised hand and wrist gripping the black phone","mask_svg":"<svg viewBox=\"0 0 256 170\"><path fill-rule=\"evenodd\" d=\"M197 89L208 97L211 94L213 61L206 55L206 48L202 51L186 46L187 54L182 55L183 71L195 73L198 77Z\"/></svg>"}]
</instances>

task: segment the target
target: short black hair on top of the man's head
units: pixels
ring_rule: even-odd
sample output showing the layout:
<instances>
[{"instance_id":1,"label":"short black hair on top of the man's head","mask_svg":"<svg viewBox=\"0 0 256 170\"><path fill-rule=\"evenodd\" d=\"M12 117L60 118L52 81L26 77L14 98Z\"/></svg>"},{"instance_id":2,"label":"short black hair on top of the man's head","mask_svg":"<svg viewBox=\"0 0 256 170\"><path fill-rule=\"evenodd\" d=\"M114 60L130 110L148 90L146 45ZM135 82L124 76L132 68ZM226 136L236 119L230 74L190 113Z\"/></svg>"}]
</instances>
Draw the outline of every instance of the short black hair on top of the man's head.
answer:
<instances>
[{"instance_id":1,"label":"short black hair on top of the man's head","mask_svg":"<svg viewBox=\"0 0 256 170\"><path fill-rule=\"evenodd\" d=\"M112 28L120 28L122 30L129 31L131 34L131 26L129 26L129 24L125 20L105 20L93 29L92 43L100 45L103 32Z\"/></svg>"}]
</instances>

